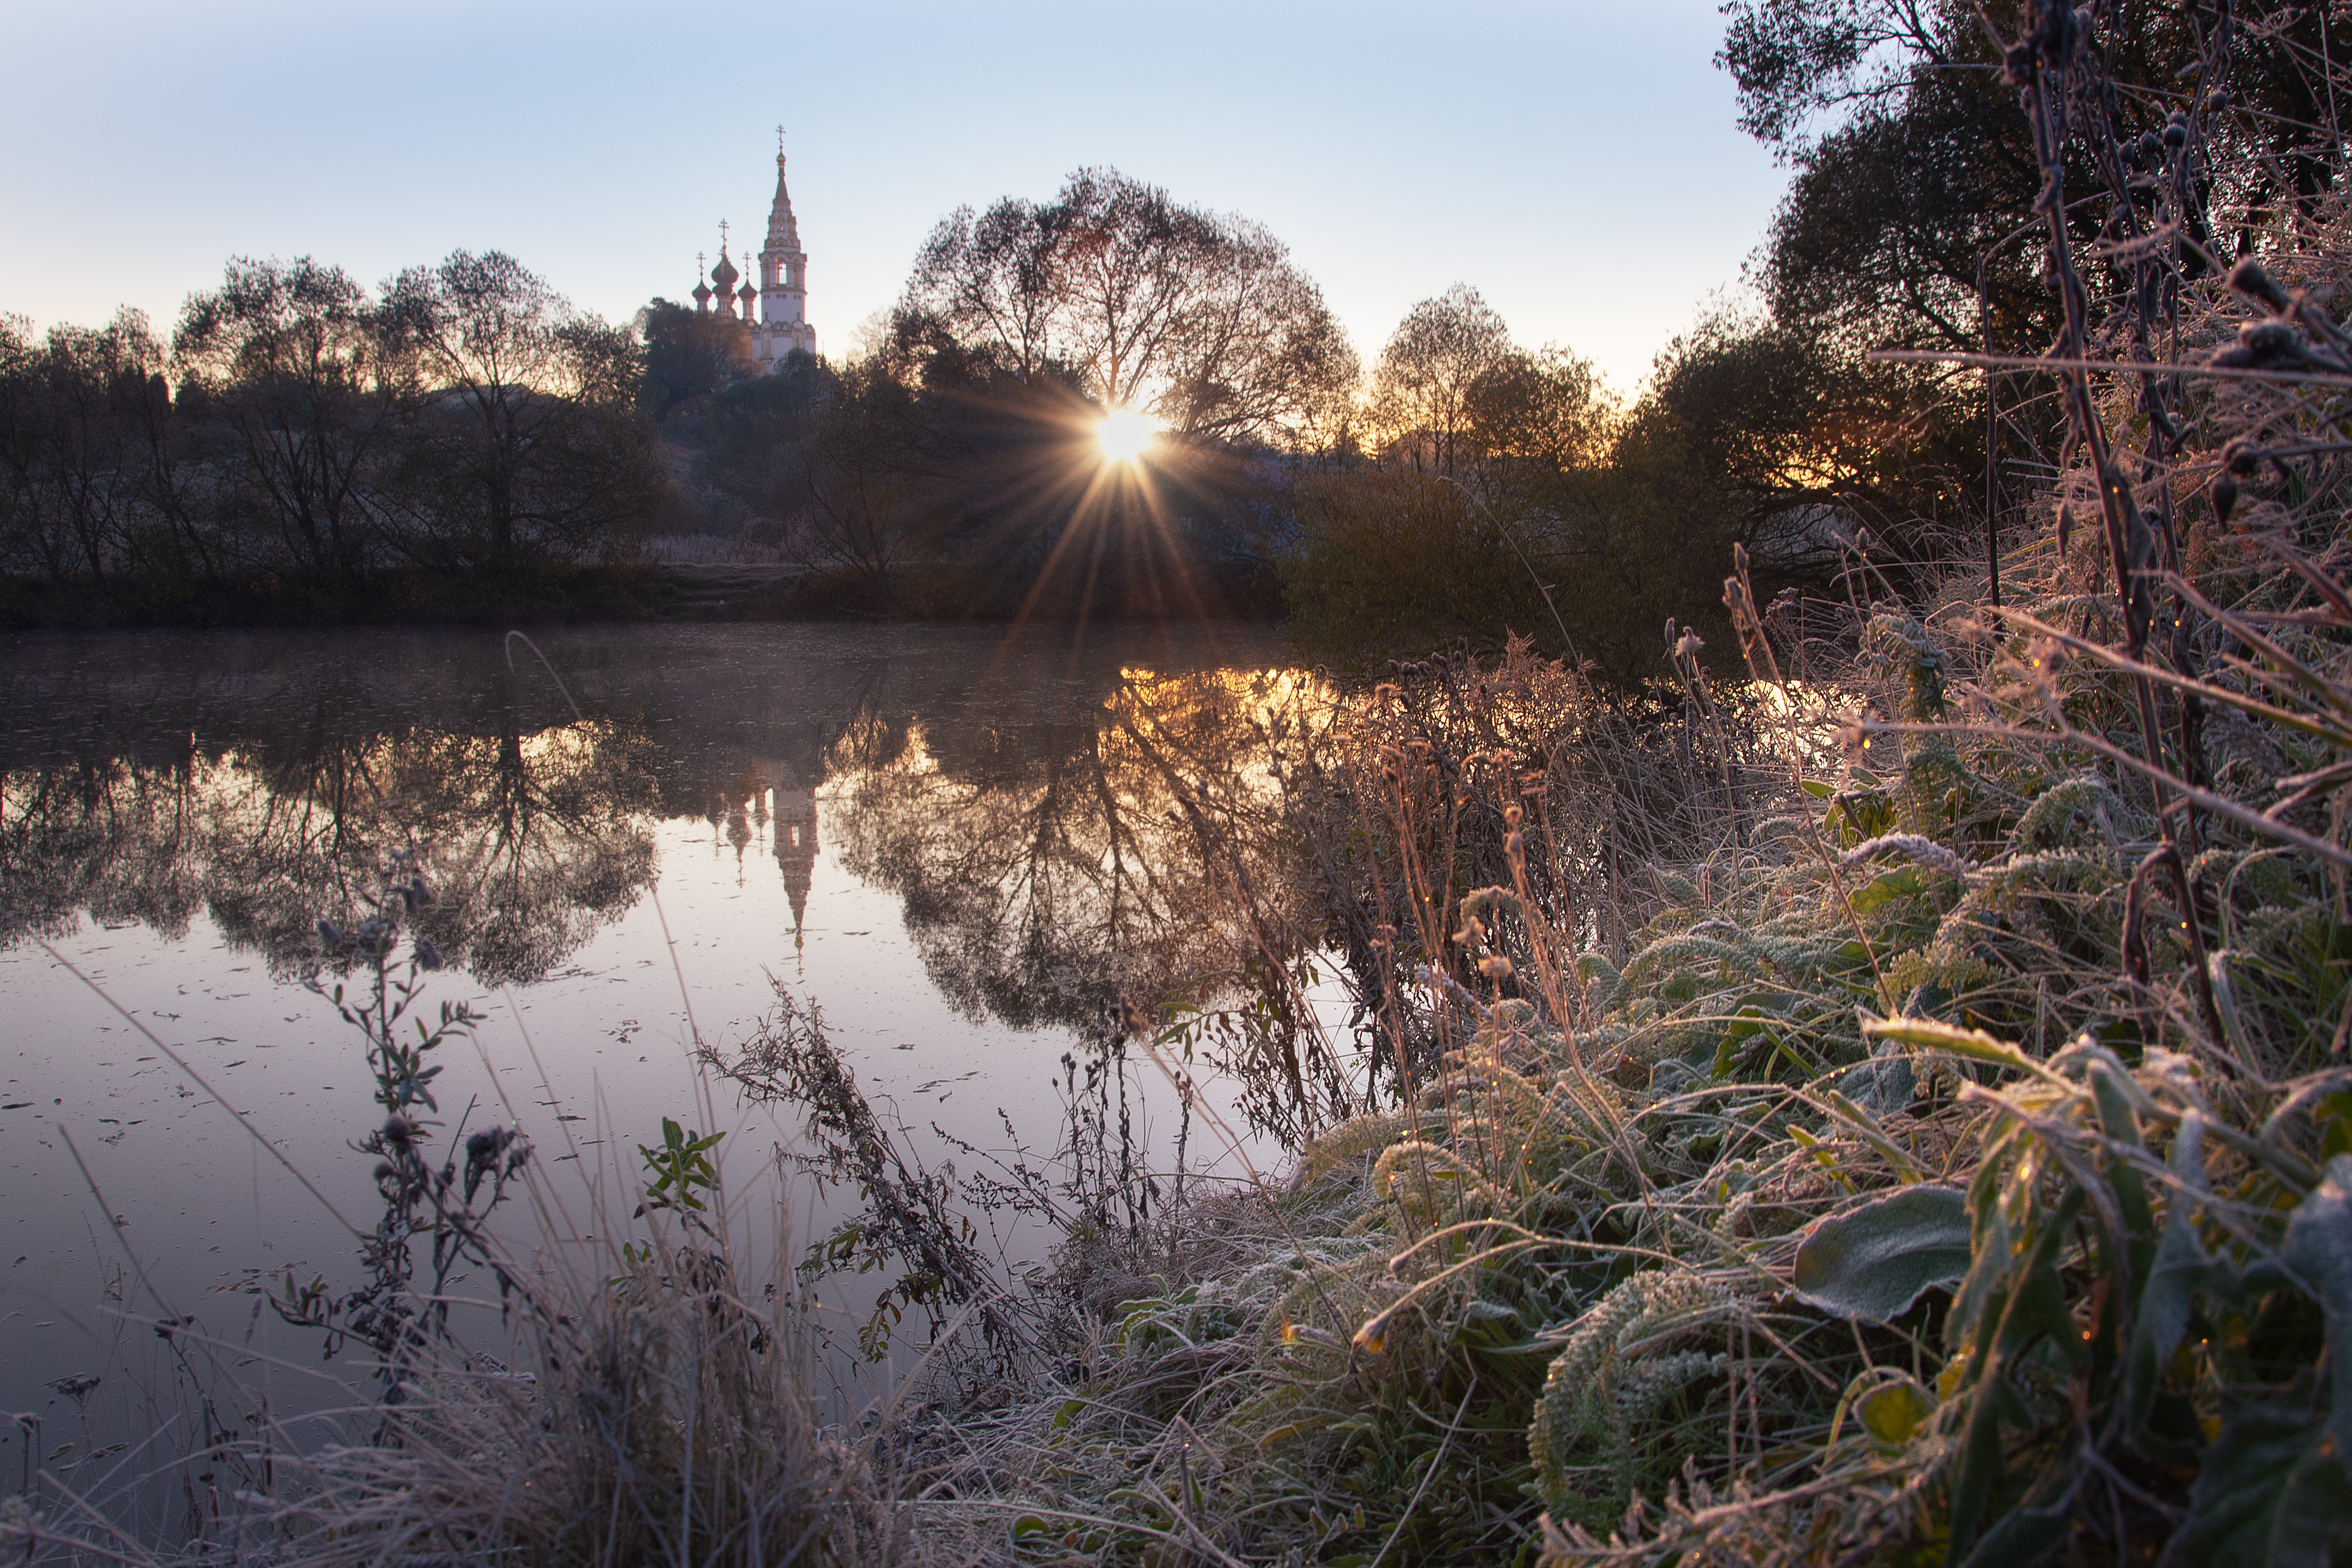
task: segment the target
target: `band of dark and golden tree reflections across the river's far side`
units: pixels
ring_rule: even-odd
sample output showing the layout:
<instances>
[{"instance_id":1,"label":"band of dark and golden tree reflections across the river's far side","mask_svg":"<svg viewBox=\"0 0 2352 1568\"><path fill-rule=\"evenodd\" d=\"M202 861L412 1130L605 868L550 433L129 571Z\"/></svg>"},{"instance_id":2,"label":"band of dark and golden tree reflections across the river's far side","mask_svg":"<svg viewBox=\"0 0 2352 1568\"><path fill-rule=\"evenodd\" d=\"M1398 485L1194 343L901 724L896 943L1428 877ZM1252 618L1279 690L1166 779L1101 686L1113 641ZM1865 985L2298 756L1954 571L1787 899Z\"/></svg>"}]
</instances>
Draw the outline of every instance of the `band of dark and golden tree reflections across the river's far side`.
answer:
<instances>
[{"instance_id":1,"label":"band of dark and golden tree reflections across the river's far side","mask_svg":"<svg viewBox=\"0 0 2352 1568\"><path fill-rule=\"evenodd\" d=\"M706 820L739 879L771 858L795 950L833 835L901 900L929 983L1016 1030L1200 1001L1305 943L1247 830L1296 677L941 639L557 642L586 719L480 637L26 639L0 689L0 947L85 917L179 940L202 912L282 980L407 849L440 950L532 983L644 896L659 818Z\"/></svg>"}]
</instances>

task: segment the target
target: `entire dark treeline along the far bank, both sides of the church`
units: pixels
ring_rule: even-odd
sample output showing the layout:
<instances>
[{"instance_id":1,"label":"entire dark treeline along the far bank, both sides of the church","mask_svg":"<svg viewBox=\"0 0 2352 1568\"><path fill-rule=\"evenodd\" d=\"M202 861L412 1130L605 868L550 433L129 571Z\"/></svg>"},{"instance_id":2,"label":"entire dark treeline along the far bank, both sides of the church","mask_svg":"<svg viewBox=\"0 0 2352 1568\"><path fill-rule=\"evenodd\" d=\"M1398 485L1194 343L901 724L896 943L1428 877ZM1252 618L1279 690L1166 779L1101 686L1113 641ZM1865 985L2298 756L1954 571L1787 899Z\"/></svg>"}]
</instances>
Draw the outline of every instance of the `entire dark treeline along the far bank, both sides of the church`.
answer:
<instances>
[{"instance_id":1,"label":"entire dark treeline along the far bank, both sides of the church","mask_svg":"<svg viewBox=\"0 0 2352 1568\"><path fill-rule=\"evenodd\" d=\"M767 371L739 320L607 324L499 254L233 261L169 339L0 322L0 588L14 621L501 614L652 538L771 562L769 614L1282 611L1343 663L1526 635L1632 682L1668 618L1712 632L1731 543L1773 590L1955 531L1983 437L1863 341L1776 294L1625 404L1454 287L1367 371L1270 233L1112 169L950 214L851 355ZM1145 463L1098 449L1112 407Z\"/></svg>"}]
</instances>

